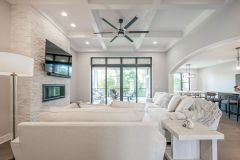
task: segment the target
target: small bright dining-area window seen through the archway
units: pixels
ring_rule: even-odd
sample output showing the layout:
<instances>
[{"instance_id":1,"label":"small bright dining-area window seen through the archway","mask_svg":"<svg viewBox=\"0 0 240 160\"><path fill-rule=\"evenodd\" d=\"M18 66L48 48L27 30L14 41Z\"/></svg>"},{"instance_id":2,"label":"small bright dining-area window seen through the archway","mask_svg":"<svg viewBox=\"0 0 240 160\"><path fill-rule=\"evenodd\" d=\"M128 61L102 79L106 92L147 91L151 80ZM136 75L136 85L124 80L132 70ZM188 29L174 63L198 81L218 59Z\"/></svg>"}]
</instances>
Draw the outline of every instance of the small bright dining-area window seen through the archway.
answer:
<instances>
[{"instance_id":1,"label":"small bright dining-area window seen through the archway","mask_svg":"<svg viewBox=\"0 0 240 160\"><path fill-rule=\"evenodd\" d=\"M175 73L174 75L174 91L189 91L190 78L187 73Z\"/></svg>"}]
</instances>

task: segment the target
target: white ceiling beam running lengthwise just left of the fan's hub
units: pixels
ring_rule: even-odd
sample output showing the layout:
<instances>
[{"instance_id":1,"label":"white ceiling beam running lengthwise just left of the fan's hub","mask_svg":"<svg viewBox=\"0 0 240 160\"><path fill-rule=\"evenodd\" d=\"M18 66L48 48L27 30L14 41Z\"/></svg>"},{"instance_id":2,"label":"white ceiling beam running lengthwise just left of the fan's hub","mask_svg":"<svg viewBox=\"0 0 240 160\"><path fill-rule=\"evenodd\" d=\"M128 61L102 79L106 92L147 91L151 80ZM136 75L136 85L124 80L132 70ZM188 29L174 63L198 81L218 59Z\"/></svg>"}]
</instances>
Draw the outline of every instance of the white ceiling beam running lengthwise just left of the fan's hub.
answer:
<instances>
[{"instance_id":1,"label":"white ceiling beam running lengthwise just left of the fan's hub","mask_svg":"<svg viewBox=\"0 0 240 160\"><path fill-rule=\"evenodd\" d=\"M87 0L83 0L83 4L84 4L85 7L87 8L88 15L89 15L89 19L90 19L90 22L91 22L91 24L92 24L92 27L93 27L94 32L100 32L100 31L99 31L99 28L98 28L98 25L97 25L97 22L96 22L96 20L95 20L95 18L94 18L94 16L93 16L93 12L91 11L91 9L90 9L89 6L88 6ZM104 41L103 41L103 39L102 39L102 35L97 34L96 36L97 36L97 38L98 38L98 40L99 40L99 43L101 44L102 48L103 48L104 50L106 50L106 49L107 49L107 46L106 46L106 44L104 43Z\"/></svg>"}]
</instances>

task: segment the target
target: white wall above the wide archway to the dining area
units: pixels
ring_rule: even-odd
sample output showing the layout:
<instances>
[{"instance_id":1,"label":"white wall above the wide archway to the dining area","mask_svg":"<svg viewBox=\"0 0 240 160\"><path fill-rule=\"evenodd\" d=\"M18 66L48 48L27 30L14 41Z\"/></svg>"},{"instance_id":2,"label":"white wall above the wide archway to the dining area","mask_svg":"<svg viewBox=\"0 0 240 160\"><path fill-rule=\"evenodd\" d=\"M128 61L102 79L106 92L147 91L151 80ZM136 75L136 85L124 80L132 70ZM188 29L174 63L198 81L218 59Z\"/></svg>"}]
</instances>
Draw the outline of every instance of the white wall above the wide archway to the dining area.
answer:
<instances>
[{"instance_id":1,"label":"white wall above the wide archway to the dining area","mask_svg":"<svg viewBox=\"0 0 240 160\"><path fill-rule=\"evenodd\" d=\"M240 1L229 1L168 51L169 92L173 90L172 73L188 59L208 48L239 39L239 15Z\"/></svg>"}]
</instances>

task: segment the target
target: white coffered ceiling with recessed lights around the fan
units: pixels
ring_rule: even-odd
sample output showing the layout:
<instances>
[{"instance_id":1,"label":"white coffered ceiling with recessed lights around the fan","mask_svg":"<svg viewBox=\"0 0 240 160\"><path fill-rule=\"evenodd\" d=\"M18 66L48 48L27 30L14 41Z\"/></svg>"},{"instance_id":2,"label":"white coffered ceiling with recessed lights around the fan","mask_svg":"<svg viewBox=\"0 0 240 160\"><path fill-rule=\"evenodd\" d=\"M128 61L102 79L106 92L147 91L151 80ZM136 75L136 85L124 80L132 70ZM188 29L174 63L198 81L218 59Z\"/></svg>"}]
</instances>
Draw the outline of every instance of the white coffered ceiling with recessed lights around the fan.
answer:
<instances>
[{"instance_id":1,"label":"white coffered ceiling with recessed lights around the fan","mask_svg":"<svg viewBox=\"0 0 240 160\"><path fill-rule=\"evenodd\" d=\"M226 4L226 0L8 0L29 3L56 23L69 37L78 52L166 52L211 14ZM64 17L62 12L67 13ZM133 43L114 34L94 32L115 31L102 21L107 19L123 26L133 17L138 20L128 30L149 30L147 34L129 34ZM75 24L72 27L70 24Z\"/></svg>"}]
</instances>

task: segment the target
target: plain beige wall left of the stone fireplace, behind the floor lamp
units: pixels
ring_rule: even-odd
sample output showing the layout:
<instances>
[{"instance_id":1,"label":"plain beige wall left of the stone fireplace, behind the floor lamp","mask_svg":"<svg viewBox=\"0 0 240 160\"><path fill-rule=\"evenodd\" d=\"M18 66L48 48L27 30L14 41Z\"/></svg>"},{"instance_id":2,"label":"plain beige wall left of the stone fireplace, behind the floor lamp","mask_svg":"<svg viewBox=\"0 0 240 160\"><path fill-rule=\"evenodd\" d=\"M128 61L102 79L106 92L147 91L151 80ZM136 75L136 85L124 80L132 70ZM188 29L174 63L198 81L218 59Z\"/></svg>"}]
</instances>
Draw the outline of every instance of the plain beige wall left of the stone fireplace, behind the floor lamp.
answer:
<instances>
[{"instance_id":1,"label":"plain beige wall left of the stone fireplace, behind the floor lamp","mask_svg":"<svg viewBox=\"0 0 240 160\"><path fill-rule=\"evenodd\" d=\"M0 52L9 48L10 4L0 0ZM10 78L0 76L0 139L10 132L10 124Z\"/></svg>"}]
</instances>

